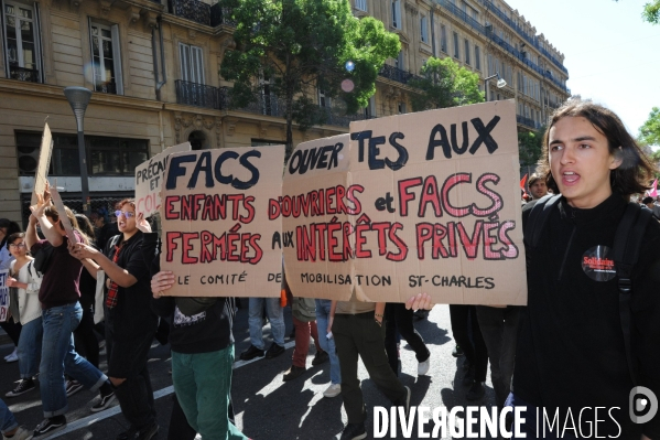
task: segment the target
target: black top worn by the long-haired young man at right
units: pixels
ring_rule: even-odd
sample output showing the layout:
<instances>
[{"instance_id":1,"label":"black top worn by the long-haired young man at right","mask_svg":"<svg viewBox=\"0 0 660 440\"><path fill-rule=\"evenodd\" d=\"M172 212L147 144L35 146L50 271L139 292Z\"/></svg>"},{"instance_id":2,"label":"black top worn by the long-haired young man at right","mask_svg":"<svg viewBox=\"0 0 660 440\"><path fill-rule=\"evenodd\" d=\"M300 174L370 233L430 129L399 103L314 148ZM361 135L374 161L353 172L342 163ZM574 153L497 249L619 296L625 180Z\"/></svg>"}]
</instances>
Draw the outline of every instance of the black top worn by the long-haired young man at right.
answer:
<instances>
[{"instance_id":1,"label":"black top worn by the long-haired young man at right","mask_svg":"<svg viewBox=\"0 0 660 440\"><path fill-rule=\"evenodd\" d=\"M523 221L533 205L524 207ZM593 409L606 407L597 415L602 420L598 436L616 436L620 429L617 438L638 440L643 429L647 436L658 439L660 415L645 426L630 420L628 398L634 384L620 326L617 278L608 267L598 266L612 259L625 208L626 202L616 194L592 210L573 208L562 198L552 210L537 248L527 249L528 307L519 329L513 393L538 407L560 408L562 426L567 408L575 423L582 408L592 408L583 412L584 437L588 432L585 423L595 421ZM597 257L601 261L594 260ZM657 222L649 222L632 271L631 309L639 385L660 397ZM608 414L614 407L620 409Z\"/></svg>"}]
</instances>

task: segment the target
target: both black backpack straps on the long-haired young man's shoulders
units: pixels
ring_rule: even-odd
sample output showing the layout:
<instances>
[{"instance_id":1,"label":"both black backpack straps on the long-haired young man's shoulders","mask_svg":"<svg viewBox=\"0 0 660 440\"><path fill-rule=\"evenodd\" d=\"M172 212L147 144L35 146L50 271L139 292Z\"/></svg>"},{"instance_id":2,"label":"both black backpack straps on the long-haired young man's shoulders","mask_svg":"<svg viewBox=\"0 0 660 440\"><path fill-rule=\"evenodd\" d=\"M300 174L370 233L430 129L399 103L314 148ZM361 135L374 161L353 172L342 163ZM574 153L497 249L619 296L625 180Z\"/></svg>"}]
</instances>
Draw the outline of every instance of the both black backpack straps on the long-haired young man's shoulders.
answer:
<instances>
[{"instance_id":1,"label":"both black backpack straps on the long-haired young man's shoulders","mask_svg":"<svg viewBox=\"0 0 660 440\"><path fill-rule=\"evenodd\" d=\"M533 249L538 246L545 222L560 198L561 194L549 194L532 207L524 226L524 246L527 249ZM628 371L635 385L639 382L639 372L630 346L630 294L632 293L630 276L639 257L639 248L647 224L651 218L652 212L650 210L642 210L635 202L628 203L616 229L613 247L613 259L619 289L619 318L621 331L624 332Z\"/></svg>"}]
</instances>

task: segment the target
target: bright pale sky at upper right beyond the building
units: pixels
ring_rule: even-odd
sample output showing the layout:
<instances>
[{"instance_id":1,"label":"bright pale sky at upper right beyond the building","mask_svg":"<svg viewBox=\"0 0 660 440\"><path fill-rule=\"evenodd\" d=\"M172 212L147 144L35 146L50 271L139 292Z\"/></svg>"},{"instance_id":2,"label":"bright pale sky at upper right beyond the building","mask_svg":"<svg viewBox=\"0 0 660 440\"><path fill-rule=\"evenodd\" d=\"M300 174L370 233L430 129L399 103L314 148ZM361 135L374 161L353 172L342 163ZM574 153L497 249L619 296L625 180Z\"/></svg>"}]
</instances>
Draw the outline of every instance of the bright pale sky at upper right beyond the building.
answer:
<instances>
[{"instance_id":1,"label":"bright pale sky at upper right beyond the building","mask_svg":"<svg viewBox=\"0 0 660 440\"><path fill-rule=\"evenodd\" d=\"M660 24L648 0L505 0L565 55L571 93L613 109L637 136L660 107Z\"/></svg>"}]
</instances>

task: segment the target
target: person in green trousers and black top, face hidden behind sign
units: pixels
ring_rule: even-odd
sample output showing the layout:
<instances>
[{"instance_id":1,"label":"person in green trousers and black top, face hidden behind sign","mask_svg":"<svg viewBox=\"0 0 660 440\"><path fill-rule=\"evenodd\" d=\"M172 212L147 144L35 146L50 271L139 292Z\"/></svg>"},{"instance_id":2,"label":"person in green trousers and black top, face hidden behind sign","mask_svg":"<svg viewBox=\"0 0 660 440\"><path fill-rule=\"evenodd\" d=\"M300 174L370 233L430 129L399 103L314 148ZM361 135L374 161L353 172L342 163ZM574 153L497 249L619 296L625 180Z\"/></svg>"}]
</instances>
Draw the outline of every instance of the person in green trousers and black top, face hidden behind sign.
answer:
<instances>
[{"instance_id":1,"label":"person in green trousers and black top, face hidden behind sign","mask_svg":"<svg viewBox=\"0 0 660 440\"><path fill-rule=\"evenodd\" d=\"M232 298L219 297L195 304L190 299L166 297L166 290L174 286L174 273L160 270L158 234L150 232L142 216L138 225L145 232L142 254L151 261L153 308L172 323L172 382L190 426L204 440L248 440L229 418Z\"/></svg>"}]
</instances>

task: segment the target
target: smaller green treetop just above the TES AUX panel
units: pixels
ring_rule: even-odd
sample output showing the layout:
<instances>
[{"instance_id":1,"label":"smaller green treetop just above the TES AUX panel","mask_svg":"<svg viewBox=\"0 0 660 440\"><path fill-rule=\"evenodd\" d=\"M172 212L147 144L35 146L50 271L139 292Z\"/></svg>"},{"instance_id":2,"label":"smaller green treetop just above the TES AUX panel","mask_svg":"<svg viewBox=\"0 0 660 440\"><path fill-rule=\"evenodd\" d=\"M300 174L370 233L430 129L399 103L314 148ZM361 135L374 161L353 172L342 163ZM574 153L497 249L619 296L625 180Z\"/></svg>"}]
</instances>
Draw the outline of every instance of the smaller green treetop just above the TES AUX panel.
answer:
<instances>
[{"instance_id":1,"label":"smaller green treetop just above the TES AUX panel","mask_svg":"<svg viewBox=\"0 0 660 440\"><path fill-rule=\"evenodd\" d=\"M479 75L459 66L451 57L430 57L421 77L408 84L421 93L411 95L413 111L465 106L484 101L479 92Z\"/></svg>"}]
</instances>

